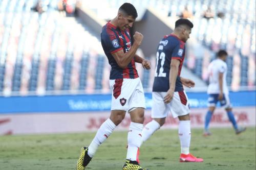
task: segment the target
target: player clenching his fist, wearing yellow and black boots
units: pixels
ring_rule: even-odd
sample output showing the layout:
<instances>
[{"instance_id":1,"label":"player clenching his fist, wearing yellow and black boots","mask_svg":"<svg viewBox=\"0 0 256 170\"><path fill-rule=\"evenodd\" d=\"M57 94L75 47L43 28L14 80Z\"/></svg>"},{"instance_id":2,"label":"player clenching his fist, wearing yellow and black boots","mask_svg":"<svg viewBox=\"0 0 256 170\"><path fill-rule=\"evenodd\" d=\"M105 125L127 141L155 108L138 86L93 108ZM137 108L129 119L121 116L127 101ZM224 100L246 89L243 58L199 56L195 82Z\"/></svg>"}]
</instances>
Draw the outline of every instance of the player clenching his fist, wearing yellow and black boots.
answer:
<instances>
[{"instance_id":1,"label":"player clenching his fist, wearing yellow and black boots","mask_svg":"<svg viewBox=\"0 0 256 170\"><path fill-rule=\"evenodd\" d=\"M137 11L132 4L124 3L118 10L117 16L106 23L101 32L101 44L111 65L110 88L112 103L110 117L98 129L89 147L83 147L77 162L77 169L84 169L96 153L99 145L122 122L125 113L129 112L131 124L127 136L128 147L123 170L142 170L139 165L139 148L142 143L145 98L144 91L135 62L150 69L150 62L138 55L143 35L135 32L131 43L129 28L133 26Z\"/></svg>"}]
</instances>

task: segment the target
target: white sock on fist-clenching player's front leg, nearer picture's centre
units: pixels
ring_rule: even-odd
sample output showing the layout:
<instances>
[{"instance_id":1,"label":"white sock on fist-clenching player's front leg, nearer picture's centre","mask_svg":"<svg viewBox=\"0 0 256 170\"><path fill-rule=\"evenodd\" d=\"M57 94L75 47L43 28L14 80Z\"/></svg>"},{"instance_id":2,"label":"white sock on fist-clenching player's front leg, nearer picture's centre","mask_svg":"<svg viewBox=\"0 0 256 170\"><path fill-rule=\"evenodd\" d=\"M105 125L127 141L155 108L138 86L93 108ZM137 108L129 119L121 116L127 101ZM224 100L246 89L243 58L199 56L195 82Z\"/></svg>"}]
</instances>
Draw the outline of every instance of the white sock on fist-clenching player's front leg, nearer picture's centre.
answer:
<instances>
[{"instance_id":1,"label":"white sock on fist-clenching player's front leg, nearer picture's centre","mask_svg":"<svg viewBox=\"0 0 256 170\"><path fill-rule=\"evenodd\" d=\"M126 159L139 162L139 148L142 143L143 124L131 122L128 132L128 148Z\"/></svg>"}]
</instances>

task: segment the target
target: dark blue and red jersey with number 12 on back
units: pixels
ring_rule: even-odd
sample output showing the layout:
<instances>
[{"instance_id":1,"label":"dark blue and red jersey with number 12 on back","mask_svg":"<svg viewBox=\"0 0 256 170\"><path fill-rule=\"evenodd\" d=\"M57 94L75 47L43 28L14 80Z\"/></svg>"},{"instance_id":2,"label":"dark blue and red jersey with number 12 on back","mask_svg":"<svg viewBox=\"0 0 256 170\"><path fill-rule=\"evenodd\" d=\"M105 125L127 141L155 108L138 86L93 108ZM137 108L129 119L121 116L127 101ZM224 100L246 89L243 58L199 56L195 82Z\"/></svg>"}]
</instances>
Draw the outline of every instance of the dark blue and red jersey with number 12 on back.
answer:
<instances>
[{"instance_id":1,"label":"dark blue and red jersey with number 12 on back","mask_svg":"<svg viewBox=\"0 0 256 170\"><path fill-rule=\"evenodd\" d=\"M169 71L172 59L180 60L179 72L176 79L175 91L182 91L180 72L185 58L185 42L177 36L170 34L165 36L158 45L155 79L153 91L166 92L169 89Z\"/></svg>"}]
</instances>

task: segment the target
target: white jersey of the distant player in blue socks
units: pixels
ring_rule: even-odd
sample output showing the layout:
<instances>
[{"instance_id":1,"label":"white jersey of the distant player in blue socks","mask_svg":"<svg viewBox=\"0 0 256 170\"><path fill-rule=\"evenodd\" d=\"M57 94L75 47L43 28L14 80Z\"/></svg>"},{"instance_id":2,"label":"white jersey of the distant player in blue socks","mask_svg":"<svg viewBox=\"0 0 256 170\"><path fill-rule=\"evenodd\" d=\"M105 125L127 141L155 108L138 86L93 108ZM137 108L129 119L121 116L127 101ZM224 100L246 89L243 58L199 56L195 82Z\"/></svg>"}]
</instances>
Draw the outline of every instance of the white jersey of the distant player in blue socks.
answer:
<instances>
[{"instance_id":1,"label":"white jersey of the distant player in blue socks","mask_svg":"<svg viewBox=\"0 0 256 170\"><path fill-rule=\"evenodd\" d=\"M226 82L227 64L221 59L216 59L209 64L209 86L207 90L208 94L220 93L219 73L223 73L223 93L228 94L228 87Z\"/></svg>"}]
</instances>

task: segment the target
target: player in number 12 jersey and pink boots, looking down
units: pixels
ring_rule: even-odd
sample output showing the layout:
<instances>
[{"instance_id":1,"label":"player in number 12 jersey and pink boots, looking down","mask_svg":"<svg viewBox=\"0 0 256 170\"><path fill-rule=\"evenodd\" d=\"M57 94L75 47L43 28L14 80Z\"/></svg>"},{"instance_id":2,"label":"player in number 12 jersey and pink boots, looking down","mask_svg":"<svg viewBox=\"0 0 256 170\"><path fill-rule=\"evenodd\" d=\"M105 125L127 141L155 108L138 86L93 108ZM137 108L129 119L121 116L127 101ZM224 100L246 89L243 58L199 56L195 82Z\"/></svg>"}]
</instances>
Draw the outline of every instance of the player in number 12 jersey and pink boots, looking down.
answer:
<instances>
[{"instance_id":1,"label":"player in number 12 jersey and pink boots, looking down","mask_svg":"<svg viewBox=\"0 0 256 170\"><path fill-rule=\"evenodd\" d=\"M203 162L189 153L190 117L189 104L183 85L194 87L195 83L180 77L185 58L185 42L189 38L193 23L180 18L175 22L174 32L164 36L158 45L156 71L153 84L153 120L142 131L143 142L165 123L169 112L179 118L179 137L181 144L180 162Z\"/></svg>"}]
</instances>

